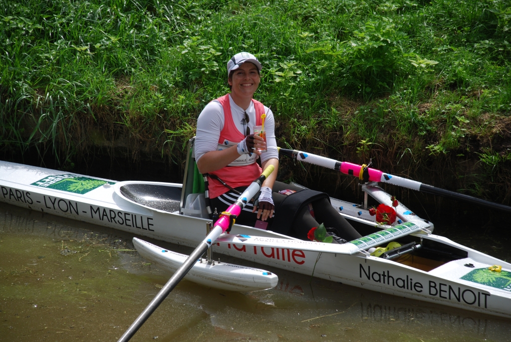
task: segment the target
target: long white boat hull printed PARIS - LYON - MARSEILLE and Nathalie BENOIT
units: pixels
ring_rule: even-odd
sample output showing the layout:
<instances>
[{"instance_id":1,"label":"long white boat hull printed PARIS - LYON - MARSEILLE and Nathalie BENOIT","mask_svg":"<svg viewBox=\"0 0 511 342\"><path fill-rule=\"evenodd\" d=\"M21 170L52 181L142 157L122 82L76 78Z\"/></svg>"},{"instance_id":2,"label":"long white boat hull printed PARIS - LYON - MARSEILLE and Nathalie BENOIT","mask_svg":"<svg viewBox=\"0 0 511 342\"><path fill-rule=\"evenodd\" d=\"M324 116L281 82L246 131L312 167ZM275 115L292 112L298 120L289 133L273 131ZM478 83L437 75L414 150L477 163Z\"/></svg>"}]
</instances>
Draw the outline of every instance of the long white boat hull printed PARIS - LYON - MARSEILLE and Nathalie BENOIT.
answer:
<instances>
[{"instance_id":1,"label":"long white boat hull printed PARIS - LYON - MARSEILLE and Nathalie BENOIT","mask_svg":"<svg viewBox=\"0 0 511 342\"><path fill-rule=\"evenodd\" d=\"M207 219L152 209L130 201L119 193L126 184L147 184L174 188L181 185L154 182L122 182L75 175L100 186L84 192L52 189L40 182L58 177L63 172L26 165L0 162L0 201L36 211L112 227L154 239L196 247L206 235ZM55 180L55 179L53 179ZM52 181L53 181L52 180ZM61 180L57 180L57 183ZM37 182L41 183L37 185ZM68 182L69 183L69 182ZM117 191L115 190L117 189ZM82 191L83 192L83 191ZM178 201L178 199L176 199ZM230 234L293 239L291 237L234 225ZM287 269L304 275L341 282L373 291L448 305L472 311L511 318L511 264L457 244L437 235L424 235L431 240L466 253L466 257L432 269L420 269L404 263L377 257L360 257L310 252L308 250L215 243L214 253L234 256L263 265ZM474 267L464 265L472 264ZM501 265L502 273L489 273L487 267ZM508 273L509 272L509 273ZM510 279L511 281L511 279Z\"/></svg>"}]
</instances>

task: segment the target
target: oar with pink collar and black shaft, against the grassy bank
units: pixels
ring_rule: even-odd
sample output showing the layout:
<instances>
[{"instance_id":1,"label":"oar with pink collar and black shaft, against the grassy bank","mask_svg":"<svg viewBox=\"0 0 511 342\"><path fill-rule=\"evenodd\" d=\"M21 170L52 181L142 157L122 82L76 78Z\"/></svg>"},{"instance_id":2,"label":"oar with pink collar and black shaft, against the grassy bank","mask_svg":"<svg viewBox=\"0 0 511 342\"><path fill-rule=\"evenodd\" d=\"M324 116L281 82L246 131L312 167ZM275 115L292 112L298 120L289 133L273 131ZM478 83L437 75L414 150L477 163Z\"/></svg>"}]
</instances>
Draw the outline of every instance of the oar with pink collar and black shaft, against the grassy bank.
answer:
<instances>
[{"instance_id":1,"label":"oar with pink collar and black shaft, against the grassy bank","mask_svg":"<svg viewBox=\"0 0 511 342\"><path fill-rule=\"evenodd\" d=\"M302 152L297 150L288 150L279 148L279 152L296 159L297 161L307 162L318 166L323 166L329 169L337 170L344 174L349 174L355 177L359 177L364 181L381 181L382 183L388 183L397 185L400 187L417 190L421 192L425 192L432 195L443 196L451 199L466 201L474 204L479 204L480 206L503 210L506 212L511 212L511 207L504 206L503 204L494 203L490 201L486 201L484 199L463 195L454 191L444 190L440 188L435 188L427 184L423 184L419 181L403 178L400 176L394 176L389 173L384 173L380 170L371 169L366 167L365 165L357 165L347 162L338 162L334 159L330 159L327 157L322 157L320 155Z\"/></svg>"}]
</instances>

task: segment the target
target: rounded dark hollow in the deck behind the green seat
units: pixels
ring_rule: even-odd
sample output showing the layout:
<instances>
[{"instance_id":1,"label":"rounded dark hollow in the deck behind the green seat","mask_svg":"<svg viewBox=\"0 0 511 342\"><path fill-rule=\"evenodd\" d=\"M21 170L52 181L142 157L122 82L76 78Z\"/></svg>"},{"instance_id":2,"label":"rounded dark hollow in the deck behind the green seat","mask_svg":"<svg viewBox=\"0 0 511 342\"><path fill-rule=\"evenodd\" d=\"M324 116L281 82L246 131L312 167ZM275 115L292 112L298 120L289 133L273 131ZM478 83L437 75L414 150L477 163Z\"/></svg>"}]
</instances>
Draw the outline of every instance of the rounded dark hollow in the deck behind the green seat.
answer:
<instances>
[{"instance_id":1,"label":"rounded dark hollow in the deck behind the green seat","mask_svg":"<svg viewBox=\"0 0 511 342\"><path fill-rule=\"evenodd\" d=\"M124 181L117 184L115 192L124 199L142 207L168 213L179 210L180 184Z\"/></svg>"}]
</instances>

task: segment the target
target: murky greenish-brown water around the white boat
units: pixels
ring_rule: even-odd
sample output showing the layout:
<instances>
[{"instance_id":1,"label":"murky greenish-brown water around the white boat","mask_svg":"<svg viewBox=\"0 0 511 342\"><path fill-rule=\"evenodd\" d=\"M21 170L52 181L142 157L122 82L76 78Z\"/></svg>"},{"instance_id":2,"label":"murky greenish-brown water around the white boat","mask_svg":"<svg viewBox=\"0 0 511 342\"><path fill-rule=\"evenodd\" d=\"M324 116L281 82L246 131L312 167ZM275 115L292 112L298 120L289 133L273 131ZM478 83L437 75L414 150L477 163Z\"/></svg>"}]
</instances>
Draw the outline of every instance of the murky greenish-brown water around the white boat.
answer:
<instances>
[{"instance_id":1,"label":"murky greenish-brown water around the white boat","mask_svg":"<svg viewBox=\"0 0 511 342\"><path fill-rule=\"evenodd\" d=\"M133 251L132 237L1 203L0 341L117 340L170 276ZM176 252L191 251L149 241ZM511 257L499 247L502 242L481 241L477 243L490 249L486 252L502 259ZM511 338L511 320L505 318L311 281L285 270L220 258L274 271L279 284L268 291L237 293L182 281L132 340Z\"/></svg>"}]
</instances>

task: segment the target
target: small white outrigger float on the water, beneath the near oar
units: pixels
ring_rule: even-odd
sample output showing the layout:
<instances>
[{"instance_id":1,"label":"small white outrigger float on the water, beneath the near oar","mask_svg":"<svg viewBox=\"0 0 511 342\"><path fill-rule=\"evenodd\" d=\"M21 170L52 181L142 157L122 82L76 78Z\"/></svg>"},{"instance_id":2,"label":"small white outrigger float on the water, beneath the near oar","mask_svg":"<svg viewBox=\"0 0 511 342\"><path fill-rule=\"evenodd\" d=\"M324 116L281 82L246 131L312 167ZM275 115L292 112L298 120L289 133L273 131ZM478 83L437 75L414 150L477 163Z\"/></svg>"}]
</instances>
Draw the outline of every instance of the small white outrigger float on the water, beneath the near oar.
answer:
<instances>
[{"instance_id":1,"label":"small white outrigger float on the water, beneath the near oar","mask_svg":"<svg viewBox=\"0 0 511 342\"><path fill-rule=\"evenodd\" d=\"M133 238L133 245L144 259L172 273L188 258L188 255L172 252L138 238ZM238 292L267 290L278 283L278 277L264 269L215 261L209 264L206 259L197 260L184 279L208 287Z\"/></svg>"}]
</instances>

